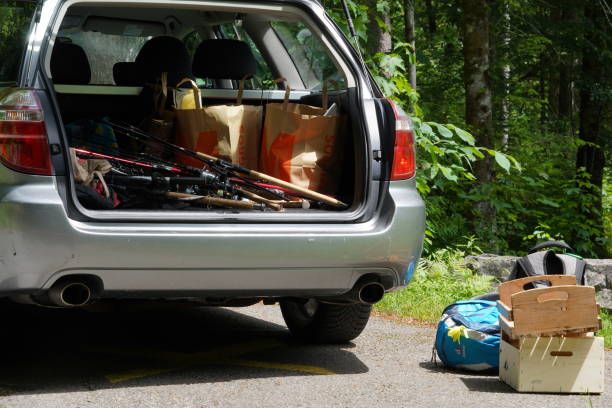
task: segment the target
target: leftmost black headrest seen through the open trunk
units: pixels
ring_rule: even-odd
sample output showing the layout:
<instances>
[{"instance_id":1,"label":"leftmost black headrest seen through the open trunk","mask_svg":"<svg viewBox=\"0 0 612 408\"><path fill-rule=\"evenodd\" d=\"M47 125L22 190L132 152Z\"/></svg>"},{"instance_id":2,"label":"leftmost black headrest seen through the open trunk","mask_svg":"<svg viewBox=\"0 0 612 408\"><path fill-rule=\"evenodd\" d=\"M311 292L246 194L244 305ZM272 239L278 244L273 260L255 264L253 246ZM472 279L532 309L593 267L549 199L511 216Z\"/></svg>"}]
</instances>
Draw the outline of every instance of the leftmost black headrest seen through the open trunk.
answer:
<instances>
[{"instance_id":1,"label":"leftmost black headrest seen through the open trunk","mask_svg":"<svg viewBox=\"0 0 612 408\"><path fill-rule=\"evenodd\" d=\"M91 68L85 51L76 44L56 42L51 53L51 77L56 84L88 84Z\"/></svg>"}]
</instances>

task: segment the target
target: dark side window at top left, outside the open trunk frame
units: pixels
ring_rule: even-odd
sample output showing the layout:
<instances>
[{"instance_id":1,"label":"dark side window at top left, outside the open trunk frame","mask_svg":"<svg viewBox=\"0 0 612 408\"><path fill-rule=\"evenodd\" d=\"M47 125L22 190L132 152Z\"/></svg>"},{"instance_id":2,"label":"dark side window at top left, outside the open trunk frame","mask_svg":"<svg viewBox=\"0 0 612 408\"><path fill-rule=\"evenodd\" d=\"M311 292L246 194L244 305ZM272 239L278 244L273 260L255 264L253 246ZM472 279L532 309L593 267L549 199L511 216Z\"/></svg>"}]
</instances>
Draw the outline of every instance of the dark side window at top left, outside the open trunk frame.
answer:
<instances>
[{"instance_id":1,"label":"dark side window at top left, outside the open trunk frame","mask_svg":"<svg viewBox=\"0 0 612 408\"><path fill-rule=\"evenodd\" d=\"M36 1L0 1L0 86L17 82Z\"/></svg>"}]
</instances>

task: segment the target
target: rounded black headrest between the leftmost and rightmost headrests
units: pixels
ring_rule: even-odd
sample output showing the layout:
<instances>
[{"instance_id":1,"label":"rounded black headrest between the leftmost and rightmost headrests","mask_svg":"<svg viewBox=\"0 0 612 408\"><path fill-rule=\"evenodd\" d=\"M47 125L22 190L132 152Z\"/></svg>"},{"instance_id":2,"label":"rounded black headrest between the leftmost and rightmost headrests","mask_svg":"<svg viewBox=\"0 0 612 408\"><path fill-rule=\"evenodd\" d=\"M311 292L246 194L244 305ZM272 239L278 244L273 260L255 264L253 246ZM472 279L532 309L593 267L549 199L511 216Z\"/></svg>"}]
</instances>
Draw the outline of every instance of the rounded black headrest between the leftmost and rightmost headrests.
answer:
<instances>
[{"instance_id":1,"label":"rounded black headrest between the leftmost and rightmost headrests","mask_svg":"<svg viewBox=\"0 0 612 408\"><path fill-rule=\"evenodd\" d=\"M157 82L162 72L168 73L169 86L193 76L187 48L174 37L155 37L147 41L136 57L136 65L142 83Z\"/></svg>"}]
</instances>

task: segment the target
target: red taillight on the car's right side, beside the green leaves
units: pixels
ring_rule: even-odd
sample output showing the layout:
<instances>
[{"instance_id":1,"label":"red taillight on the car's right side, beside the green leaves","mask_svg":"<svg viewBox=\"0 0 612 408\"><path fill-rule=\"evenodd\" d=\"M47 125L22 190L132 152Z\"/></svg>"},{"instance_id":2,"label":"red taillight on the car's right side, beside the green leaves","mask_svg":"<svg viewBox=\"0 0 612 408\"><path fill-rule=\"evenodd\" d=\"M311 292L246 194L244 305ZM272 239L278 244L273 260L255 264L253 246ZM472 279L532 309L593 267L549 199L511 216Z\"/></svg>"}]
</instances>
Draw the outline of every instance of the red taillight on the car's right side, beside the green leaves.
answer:
<instances>
[{"instance_id":1,"label":"red taillight on the car's right side, beside the green leaves","mask_svg":"<svg viewBox=\"0 0 612 408\"><path fill-rule=\"evenodd\" d=\"M405 180L416 172L414 132L410 118L402 108L388 99L395 115L395 144L393 146L393 166L391 180Z\"/></svg>"}]
</instances>

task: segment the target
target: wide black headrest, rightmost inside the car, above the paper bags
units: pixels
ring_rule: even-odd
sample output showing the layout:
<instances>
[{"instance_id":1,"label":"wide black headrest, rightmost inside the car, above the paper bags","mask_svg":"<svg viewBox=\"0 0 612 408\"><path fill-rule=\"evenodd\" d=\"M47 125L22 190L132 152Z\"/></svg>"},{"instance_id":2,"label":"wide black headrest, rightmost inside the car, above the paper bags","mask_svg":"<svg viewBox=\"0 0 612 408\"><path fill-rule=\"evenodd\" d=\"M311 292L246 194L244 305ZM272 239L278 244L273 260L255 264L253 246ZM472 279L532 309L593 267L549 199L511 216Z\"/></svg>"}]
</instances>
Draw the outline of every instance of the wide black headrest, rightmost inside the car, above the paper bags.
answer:
<instances>
[{"instance_id":1,"label":"wide black headrest, rightmost inside the car, above the paper bags","mask_svg":"<svg viewBox=\"0 0 612 408\"><path fill-rule=\"evenodd\" d=\"M193 57L193 74L198 78L242 79L257 73L257 62L244 41L204 40Z\"/></svg>"}]
</instances>

